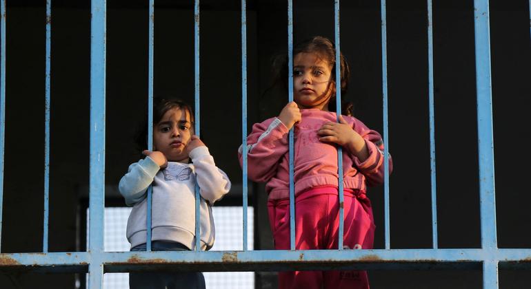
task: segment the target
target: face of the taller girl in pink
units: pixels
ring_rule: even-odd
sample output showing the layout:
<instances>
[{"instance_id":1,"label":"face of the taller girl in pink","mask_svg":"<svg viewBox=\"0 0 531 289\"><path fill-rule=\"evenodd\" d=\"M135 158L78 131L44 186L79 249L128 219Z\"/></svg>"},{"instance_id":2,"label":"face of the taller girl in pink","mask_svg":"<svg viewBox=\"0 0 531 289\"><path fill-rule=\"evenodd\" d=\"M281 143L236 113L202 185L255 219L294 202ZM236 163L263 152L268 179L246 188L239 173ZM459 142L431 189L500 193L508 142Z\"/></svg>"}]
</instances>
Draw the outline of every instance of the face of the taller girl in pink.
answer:
<instances>
[{"instance_id":1,"label":"face of the taller girl in pink","mask_svg":"<svg viewBox=\"0 0 531 289\"><path fill-rule=\"evenodd\" d=\"M301 52L293 58L293 99L301 109L328 111L332 96L330 64L317 54Z\"/></svg>"}]
</instances>

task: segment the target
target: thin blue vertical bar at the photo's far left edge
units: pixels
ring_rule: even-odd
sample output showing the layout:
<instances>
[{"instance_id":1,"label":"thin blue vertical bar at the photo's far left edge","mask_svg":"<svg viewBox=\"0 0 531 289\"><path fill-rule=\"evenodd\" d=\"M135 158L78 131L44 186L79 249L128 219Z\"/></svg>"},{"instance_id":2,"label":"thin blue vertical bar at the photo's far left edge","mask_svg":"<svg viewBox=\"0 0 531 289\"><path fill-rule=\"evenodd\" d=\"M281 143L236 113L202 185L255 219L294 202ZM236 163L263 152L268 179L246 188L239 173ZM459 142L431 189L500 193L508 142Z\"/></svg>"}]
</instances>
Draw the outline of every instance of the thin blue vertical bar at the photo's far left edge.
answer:
<instances>
[{"instance_id":1,"label":"thin blue vertical bar at the photo's far left edge","mask_svg":"<svg viewBox=\"0 0 531 289\"><path fill-rule=\"evenodd\" d=\"M0 0L0 252L3 211L3 154L6 138L6 0Z\"/></svg>"}]
</instances>

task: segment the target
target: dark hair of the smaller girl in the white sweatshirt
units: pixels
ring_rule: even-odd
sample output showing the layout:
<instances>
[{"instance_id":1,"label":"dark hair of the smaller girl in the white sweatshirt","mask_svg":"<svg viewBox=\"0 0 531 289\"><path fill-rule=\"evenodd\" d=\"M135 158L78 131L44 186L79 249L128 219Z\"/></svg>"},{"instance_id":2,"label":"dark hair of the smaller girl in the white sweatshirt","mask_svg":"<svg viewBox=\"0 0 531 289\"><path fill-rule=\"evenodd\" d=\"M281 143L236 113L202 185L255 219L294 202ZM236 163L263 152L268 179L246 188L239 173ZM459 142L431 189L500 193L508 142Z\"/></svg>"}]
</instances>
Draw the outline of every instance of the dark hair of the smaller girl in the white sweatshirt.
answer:
<instances>
[{"instance_id":1,"label":"dark hair of the smaller girl in the white sweatshirt","mask_svg":"<svg viewBox=\"0 0 531 289\"><path fill-rule=\"evenodd\" d=\"M154 98L153 99L153 126L161 121L161 118L170 109L179 108L186 111L190 115L190 122L192 131L194 129L194 113L192 107L183 100L177 98ZM144 149L148 149L148 116L144 118L143 125L139 128L136 137L137 149L142 153Z\"/></svg>"}]
</instances>

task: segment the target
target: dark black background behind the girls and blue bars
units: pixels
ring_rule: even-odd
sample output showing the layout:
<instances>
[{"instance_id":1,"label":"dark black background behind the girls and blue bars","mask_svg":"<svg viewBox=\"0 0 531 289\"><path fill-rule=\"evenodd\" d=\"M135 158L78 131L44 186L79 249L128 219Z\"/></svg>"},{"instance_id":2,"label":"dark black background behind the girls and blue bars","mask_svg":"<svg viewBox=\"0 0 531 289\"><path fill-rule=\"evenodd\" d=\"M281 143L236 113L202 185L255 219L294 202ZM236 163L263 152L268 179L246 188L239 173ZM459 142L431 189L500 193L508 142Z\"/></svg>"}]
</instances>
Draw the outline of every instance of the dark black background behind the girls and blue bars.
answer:
<instances>
[{"instance_id":1,"label":"dark black background behind the girls and blue bars","mask_svg":"<svg viewBox=\"0 0 531 289\"><path fill-rule=\"evenodd\" d=\"M74 2L74 3L72 3ZM108 0L106 205L131 162L148 91L148 1ZM156 1L154 94L193 104L193 1ZM2 253L40 252L43 230L45 1L8 1ZM201 138L241 204L240 1L201 1ZM287 49L285 1L248 1L248 127L287 102L265 93ZM431 248L428 40L425 1L387 3L392 248ZM479 248L479 178L472 0L434 3L434 98L439 248ZM490 1L492 109L500 248L531 248L527 177L531 50L527 0ZM294 1L294 42L334 39L334 3ZM354 115L383 133L379 1L341 1L341 51L352 67ZM52 1L50 251L85 250L89 182L90 1ZM251 184L255 248L271 248L263 185ZM383 188L370 189L384 246ZM73 274L0 275L0 288L74 288ZM500 271L501 288L529 288L528 271ZM257 288L276 288L272 273ZM481 288L481 271L372 271L371 288ZM83 284L83 282L81 282Z\"/></svg>"}]
</instances>

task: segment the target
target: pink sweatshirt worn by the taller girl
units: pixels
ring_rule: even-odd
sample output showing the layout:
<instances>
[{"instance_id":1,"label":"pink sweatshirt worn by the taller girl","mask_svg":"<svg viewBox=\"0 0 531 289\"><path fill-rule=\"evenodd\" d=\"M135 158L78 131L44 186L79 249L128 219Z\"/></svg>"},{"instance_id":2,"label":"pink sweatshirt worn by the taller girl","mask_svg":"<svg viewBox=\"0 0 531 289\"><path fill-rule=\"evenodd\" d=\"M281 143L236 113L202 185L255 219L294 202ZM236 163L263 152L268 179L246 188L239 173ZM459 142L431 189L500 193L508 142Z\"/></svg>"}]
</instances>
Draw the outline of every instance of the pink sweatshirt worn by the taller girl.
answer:
<instances>
[{"instance_id":1,"label":"pink sweatshirt worn by the taller girl","mask_svg":"<svg viewBox=\"0 0 531 289\"><path fill-rule=\"evenodd\" d=\"M335 122L334 112L301 109L302 120L294 131L295 195L316 186L338 186L337 149L333 144L319 141L317 131L328 121ZM383 183L383 142L377 131L350 116L343 118L365 139L369 157L360 162L343 149L343 186L365 191L369 186ZM252 127L247 138L248 177L254 182L267 182L265 190L270 200L289 197L288 128L278 119L269 118ZM242 147L238 150L240 165ZM389 171L392 160L389 158Z\"/></svg>"}]
</instances>

